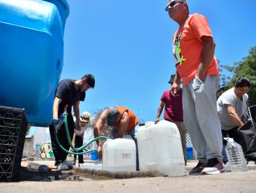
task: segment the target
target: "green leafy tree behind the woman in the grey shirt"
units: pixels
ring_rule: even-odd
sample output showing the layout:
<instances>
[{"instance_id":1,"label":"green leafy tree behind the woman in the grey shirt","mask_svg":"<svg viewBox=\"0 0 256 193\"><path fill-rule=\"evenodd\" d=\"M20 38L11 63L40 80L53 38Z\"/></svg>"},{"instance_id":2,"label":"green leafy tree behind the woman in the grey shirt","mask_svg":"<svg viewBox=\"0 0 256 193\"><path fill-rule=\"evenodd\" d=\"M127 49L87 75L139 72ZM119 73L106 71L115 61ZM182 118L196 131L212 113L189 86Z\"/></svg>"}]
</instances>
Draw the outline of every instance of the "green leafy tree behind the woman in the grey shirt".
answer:
<instances>
[{"instance_id":1,"label":"green leafy tree behind the woman in the grey shirt","mask_svg":"<svg viewBox=\"0 0 256 193\"><path fill-rule=\"evenodd\" d=\"M250 90L248 92L250 105L256 104L256 46L250 48L248 57L244 57L242 61L235 62L233 66L222 65L222 68L232 72L234 75L226 84L226 90L232 88L238 77L246 77L250 79Z\"/></svg>"}]
</instances>

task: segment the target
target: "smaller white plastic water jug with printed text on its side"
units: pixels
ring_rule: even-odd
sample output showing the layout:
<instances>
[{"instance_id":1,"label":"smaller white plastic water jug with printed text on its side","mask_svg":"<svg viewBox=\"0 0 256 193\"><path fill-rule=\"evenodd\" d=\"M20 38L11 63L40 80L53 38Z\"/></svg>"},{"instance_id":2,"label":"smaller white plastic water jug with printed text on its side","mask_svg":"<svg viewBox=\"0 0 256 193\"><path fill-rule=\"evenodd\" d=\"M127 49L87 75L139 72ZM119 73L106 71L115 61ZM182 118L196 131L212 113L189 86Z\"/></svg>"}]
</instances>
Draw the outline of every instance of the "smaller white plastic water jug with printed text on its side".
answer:
<instances>
[{"instance_id":1,"label":"smaller white plastic water jug with printed text on its side","mask_svg":"<svg viewBox=\"0 0 256 193\"><path fill-rule=\"evenodd\" d=\"M136 171L136 145L132 139L108 139L102 150L102 170Z\"/></svg>"}]
</instances>

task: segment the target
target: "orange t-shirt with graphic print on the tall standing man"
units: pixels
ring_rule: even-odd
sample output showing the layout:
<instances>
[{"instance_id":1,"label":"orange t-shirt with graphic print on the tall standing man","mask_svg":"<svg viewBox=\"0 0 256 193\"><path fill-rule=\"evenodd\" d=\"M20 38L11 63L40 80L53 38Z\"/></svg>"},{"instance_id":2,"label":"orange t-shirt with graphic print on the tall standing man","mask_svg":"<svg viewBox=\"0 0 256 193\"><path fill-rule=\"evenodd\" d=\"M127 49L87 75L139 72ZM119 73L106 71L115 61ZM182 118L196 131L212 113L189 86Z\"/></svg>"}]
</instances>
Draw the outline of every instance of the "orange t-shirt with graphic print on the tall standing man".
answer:
<instances>
[{"instance_id":1,"label":"orange t-shirt with graphic print on the tall standing man","mask_svg":"<svg viewBox=\"0 0 256 193\"><path fill-rule=\"evenodd\" d=\"M203 36L212 37L212 32L208 20L201 14L190 14L183 26L174 33L172 51L176 69L183 80L183 87L196 77L201 62ZM219 75L215 56L205 74Z\"/></svg>"}]
</instances>

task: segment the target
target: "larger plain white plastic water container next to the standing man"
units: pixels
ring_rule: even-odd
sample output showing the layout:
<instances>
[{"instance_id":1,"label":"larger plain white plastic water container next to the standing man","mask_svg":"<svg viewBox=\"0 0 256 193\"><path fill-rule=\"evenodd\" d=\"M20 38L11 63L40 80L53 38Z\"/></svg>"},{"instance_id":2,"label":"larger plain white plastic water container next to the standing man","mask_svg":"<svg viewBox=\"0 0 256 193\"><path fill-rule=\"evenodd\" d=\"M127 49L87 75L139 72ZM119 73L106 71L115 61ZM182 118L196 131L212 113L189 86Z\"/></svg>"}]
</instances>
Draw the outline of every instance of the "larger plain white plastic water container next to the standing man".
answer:
<instances>
[{"instance_id":1,"label":"larger plain white plastic water container next to the standing man","mask_svg":"<svg viewBox=\"0 0 256 193\"><path fill-rule=\"evenodd\" d=\"M181 136L175 123L159 121L138 128L140 171L158 170L168 176L185 176Z\"/></svg>"}]
</instances>

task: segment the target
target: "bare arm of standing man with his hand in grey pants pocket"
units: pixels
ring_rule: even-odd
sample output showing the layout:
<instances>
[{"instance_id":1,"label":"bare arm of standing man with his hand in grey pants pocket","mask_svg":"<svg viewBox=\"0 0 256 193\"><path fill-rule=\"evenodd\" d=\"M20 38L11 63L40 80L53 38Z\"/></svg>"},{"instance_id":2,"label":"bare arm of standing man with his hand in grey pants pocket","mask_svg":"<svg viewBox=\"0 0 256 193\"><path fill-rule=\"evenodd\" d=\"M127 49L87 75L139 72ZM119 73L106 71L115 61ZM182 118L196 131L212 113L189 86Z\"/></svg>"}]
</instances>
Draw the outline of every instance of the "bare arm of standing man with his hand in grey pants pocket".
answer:
<instances>
[{"instance_id":1,"label":"bare arm of standing man with his hand in grey pants pocket","mask_svg":"<svg viewBox=\"0 0 256 193\"><path fill-rule=\"evenodd\" d=\"M208 36L201 37L201 41L203 43L202 58L196 76L199 77L201 81L205 81L205 72L214 57L216 44L213 38Z\"/></svg>"}]
</instances>

